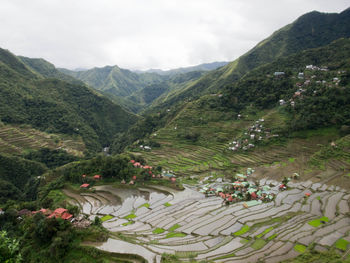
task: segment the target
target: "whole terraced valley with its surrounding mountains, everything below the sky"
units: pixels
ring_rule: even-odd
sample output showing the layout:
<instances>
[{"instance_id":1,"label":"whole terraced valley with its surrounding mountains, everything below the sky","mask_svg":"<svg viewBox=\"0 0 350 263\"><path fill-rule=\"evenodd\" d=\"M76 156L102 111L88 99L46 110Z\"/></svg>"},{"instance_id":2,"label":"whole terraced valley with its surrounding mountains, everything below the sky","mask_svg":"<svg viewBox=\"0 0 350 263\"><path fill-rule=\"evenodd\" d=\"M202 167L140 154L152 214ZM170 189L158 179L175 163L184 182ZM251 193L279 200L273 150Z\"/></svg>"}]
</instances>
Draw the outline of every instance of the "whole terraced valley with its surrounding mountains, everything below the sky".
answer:
<instances>
[{"instance_id":1,"label":"whole terraced valley with its surrounding mountains, everything below the sky","mask_svg":"<svg viewBox=\"0 0 350 263\"><path fill-rule=\"evenodd\" d=\"M350 262L349 18L172 70L0 48L0 262Z\"/></svg>"}]
</instances>

